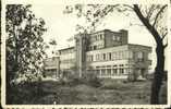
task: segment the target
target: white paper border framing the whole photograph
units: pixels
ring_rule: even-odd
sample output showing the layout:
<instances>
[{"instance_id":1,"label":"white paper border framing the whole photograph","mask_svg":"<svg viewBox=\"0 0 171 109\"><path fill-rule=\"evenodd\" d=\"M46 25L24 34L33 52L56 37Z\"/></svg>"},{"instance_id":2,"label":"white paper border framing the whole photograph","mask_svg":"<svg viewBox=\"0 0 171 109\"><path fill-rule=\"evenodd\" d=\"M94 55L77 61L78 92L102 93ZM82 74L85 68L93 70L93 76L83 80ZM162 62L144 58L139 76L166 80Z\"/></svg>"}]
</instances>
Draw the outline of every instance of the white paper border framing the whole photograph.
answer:
<instances>
[{"instance_id":1,"label":"white paper border framing the whole photograph","mask_svg":"<svg viewBox=\"0 0 171 109\"><path fill-rule=\"evenodd\" d=\"M2 29L2 45L1 45L1 77L2 77L2 86L1 86L1 104L3 108L167 108L170 107L171 104L171 96L169 90L171 90L171 87L169 86L169 83L171 83L171 75L168 74L168 105L5 105L5 4L26 4L26 3L52 3L52 4L61 4L61 3L68 3L68 4L74 4L74 3L168 3L170 8L169 0L2 0L2 17L1 17L1 29ZM169 10L169 13L171 13L171 9ZM171 24L171 15L169 14L168 17L168 27L171 27L169 24ZM169 20L170 19L170 20ZM169 35L171 35L171 32L169 31ZM170 51L170 37L169 37L169 46L167 56L171 56ZM170 60L170 58L169 58ZM169 66L170 61L168 61L168 69L169 73L171 71L171 68Z\"/></svg>"}]
</instances>

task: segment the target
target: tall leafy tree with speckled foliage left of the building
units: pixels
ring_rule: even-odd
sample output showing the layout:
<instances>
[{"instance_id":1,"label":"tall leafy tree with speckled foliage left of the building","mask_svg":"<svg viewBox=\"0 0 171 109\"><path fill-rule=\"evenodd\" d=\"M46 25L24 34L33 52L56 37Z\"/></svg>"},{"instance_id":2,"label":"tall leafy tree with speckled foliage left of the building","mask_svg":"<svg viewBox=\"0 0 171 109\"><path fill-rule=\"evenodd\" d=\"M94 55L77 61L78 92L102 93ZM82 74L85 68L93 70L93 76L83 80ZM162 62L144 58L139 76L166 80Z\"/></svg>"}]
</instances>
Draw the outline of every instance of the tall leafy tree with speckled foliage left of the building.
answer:
<instances>
[{"instance_id":1,"label":"tall leafy tree with speckled foliage left of the building","mask_svg":"<svg viewBox=\"0 0 171 109\"><path fill-rule=\"evenodd\" d=\"M27 82L39 80L42 72L46 32L45 21L36 19L30 5L8 4L5 12L7 31L7 95L17 77L26 77ZM7 98L10 100L12 98Z\"/></svg>"}]
</instances>

